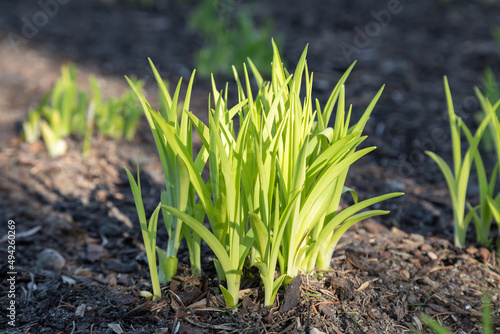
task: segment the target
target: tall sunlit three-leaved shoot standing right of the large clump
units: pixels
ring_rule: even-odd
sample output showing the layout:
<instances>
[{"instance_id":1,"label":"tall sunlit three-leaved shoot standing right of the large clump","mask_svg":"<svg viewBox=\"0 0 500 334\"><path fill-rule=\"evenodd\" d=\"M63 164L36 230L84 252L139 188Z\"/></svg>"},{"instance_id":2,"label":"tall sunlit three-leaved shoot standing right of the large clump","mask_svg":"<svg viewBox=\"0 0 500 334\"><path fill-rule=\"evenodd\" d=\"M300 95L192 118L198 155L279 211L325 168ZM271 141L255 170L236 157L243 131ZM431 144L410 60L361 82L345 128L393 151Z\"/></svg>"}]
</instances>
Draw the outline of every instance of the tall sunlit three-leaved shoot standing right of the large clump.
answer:
<instances>
[{"instance_id":1,"label":"tall sunlit three-leaved shoot standing right of the large clump","mask_svg":"<svg viewBox=\"0 0 500 334\"><path fill-rule=\"evenodd\" d=\"M438 164L441 172L445 176L446 183L448 184L453 207L455 246L465 246L467 228L473 218L475 222L478 242L482 244L488 244L489 225L491 225L491 221L490 223L488 223L487 215L481 215L482 218L479 218L476 215L475 212L479 207L473 208L469 205L469 211L467 214L465 213L465 207L467 187L469 184L472 164L479 154L479 141L481 140L481 137L486 127L488 126L490 116L486 117L482 121L476 134L472 136L465 123L463 123L460 117L455 114L450 87L448 85L448 79L446 77L444 77L444 86L446 92L446 101L448 105L448 115L450 118L450 130L453 149L453 171L441 157L433 152L427 151L426 153ZM467 152L465 153L463 159L462 144L460 139L462 131L467 135L467 139L469 142L469 148L467 149Z\"/></svg>"}]
</instances>

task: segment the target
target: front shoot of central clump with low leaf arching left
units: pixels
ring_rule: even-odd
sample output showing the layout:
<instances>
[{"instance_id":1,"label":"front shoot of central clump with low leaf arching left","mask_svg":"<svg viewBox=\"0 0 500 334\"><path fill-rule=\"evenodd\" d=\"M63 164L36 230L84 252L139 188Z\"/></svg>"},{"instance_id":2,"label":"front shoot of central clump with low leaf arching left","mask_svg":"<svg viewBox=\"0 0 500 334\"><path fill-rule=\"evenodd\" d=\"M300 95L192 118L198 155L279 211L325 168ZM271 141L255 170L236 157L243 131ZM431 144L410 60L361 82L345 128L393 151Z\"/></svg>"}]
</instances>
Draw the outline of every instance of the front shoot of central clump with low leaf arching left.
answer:
<instances>
[{"instance_id":1,"label":"front shoot of central clump with low leaf arching left","mask_svg":"<svg viewBox=\"0 0 500 334\"><path fill-rule=\"evenodd\" d=\"M213 91L216 105L209 112L209 127L192 113L186 112L209 154L210 180L207 184L201 179L201 173L196 172L195 164L185 159L185 154L179 150L179 156L183 157L188 167L191 182L200 197L212 232L180 210L168 206L164 208L200 234L213 250L217 256L219 280L226 281L227 287L220 286L226 306L234 307L239 300L243 265L254 240L248 230L248 212L251 208L247 201L247 191L251 188L253 178L246 175L249 170L247 164L253 163L251 157L246 156L251 135L248 130L250 118L242 120L239 136L236 138L232 118L241 112L246 100L228 110L227 95L219 93L215 83ZM166 137L172 138L173 133L168 124L161 120L158 123ZM174 140L178 142L177 138Z\"/></svg>"}]
</instances>

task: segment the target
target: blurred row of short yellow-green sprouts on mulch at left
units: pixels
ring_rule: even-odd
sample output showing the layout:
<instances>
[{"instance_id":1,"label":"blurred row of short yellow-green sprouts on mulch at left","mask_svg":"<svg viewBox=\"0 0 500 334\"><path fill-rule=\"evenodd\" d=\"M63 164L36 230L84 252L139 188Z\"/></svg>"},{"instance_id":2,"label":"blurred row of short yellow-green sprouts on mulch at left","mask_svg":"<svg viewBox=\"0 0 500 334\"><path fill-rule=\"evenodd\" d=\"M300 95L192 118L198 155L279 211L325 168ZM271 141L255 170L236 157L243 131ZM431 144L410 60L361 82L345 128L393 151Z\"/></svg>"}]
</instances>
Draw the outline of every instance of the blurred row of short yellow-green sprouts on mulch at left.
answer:
<instances>
[{"instance_id":1,"label":"blurred row of short yellow-green sprouts on mulch at left","mask_svg":"<svg viewBox=\"0 0 500 334\"><path fill-rule=\"evenodd\" d=\"M142 81L134 80L137 87ZM89 77L90 94L78 88L73 64L63 66L61 77L23 123L22 137L33 143L43 138L50 156L67 151L66 138L84 138L83 154L88 155L94 128L107 137L132 140L142 108L132 90L118 98L104 100L96 77Z\"/></svg>"}]
</instances>

